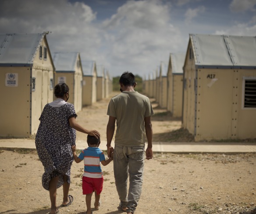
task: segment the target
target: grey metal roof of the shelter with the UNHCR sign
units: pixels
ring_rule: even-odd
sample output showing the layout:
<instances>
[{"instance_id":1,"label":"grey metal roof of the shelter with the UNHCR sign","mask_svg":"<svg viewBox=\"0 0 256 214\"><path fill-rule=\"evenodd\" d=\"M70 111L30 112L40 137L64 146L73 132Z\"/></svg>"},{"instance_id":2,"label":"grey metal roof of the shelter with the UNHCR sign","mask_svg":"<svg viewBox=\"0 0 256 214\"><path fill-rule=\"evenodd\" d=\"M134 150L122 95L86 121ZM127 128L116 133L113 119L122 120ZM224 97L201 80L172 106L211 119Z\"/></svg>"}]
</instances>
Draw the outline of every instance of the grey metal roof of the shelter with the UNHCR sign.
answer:
<instances>
[{"instance_id":1,"label":"grey metal roof of the shelter with the UNHCR sign","mask_svg":"<svg viewBox=\"0 0 256 214\"><path fill-rule=\"evenodd\" d=\"M32 65L46 33L0 34L0 64Z\"/></svg>"}]
</instances>

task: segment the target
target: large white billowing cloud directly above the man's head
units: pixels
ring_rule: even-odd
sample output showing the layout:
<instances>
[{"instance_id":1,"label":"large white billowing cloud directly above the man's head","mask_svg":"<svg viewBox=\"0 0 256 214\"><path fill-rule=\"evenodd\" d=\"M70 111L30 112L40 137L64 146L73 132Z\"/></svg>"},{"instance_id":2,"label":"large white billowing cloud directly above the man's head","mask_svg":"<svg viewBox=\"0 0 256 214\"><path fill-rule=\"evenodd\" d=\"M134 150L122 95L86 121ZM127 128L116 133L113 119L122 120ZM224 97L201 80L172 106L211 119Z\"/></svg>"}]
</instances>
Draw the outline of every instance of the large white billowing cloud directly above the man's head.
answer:
<instances>
[{"instance_id":1,"label":"large white billowing cloud directly above the man's head","mask_svg":"<svg viewBox=\"0 0 256 214\"><path fill-rule=\"evenodd\" d=\"M128 1L103 22L108 56L117 70L144 73L182 45L177 28L170 24L170 8L159 0ZM114 32L114 33L111 33Z\"/></svg>"}]
</instances>

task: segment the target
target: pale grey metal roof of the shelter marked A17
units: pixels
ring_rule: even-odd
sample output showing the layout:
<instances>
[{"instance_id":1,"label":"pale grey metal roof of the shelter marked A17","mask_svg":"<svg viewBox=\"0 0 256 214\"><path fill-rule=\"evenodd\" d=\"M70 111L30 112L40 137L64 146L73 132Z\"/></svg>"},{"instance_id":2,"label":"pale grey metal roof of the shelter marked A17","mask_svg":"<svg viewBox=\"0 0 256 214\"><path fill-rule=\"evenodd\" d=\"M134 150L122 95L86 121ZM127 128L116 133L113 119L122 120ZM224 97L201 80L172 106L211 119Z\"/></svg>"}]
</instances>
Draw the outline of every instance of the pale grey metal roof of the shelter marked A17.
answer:
<instances>
[{"instance_id":1,"label":"pale grey metal roof of the shelter marked A17","mask_svg":"<svg viewBox=\"0 0 256 214\"><path fill-rule=\"evenodd\" d=\"M256 37L190 34L197 67L256 67Z\"/></svg>"}]
</instances>

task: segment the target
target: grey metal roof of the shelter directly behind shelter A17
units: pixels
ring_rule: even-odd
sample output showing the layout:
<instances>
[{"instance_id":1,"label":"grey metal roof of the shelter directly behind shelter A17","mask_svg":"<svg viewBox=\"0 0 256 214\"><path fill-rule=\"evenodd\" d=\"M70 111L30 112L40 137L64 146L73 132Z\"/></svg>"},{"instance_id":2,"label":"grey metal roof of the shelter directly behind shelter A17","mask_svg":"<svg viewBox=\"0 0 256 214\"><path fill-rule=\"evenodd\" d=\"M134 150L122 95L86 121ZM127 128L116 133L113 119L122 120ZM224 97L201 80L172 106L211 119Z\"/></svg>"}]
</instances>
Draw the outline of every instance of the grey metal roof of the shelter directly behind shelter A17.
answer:
<instances>
[{"instance_id":1,"label":"grey metal roof of the shelter directly behind shelter A17","mask_svg":"<svg viewBox=\"0 0 256 214\"><path fill-rule=\"evenodd\" d=\"M185 57L186 57L185 53L170 54L172 74L183 74Z\"/></svg>"}]
</instances>

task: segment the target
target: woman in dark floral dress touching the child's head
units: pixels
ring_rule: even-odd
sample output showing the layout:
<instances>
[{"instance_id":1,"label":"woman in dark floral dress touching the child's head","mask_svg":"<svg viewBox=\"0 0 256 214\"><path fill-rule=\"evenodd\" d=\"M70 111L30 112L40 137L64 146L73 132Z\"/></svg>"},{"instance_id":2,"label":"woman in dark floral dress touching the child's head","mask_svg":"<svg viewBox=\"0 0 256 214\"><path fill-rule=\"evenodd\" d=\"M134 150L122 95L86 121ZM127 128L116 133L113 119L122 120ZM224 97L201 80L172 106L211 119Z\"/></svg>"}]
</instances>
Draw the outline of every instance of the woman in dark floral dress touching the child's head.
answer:
<instances>
[{"instance_id":1,"label":"woman in dark floral dress touching the child's head","mask_svg":"<svg viewBox=\"0 0 256 214\"><path fill-rule=\"evenodd\" d=\"M71 146L75 145L76 131L100 137L96 130L86 130L75 118L74 105L68 103L69 88L65 83L57 84L54 88L56 100L45 105L39 118L40 125L36 133L36 150L42 161L45 172L42 177L43 188L49 190L50 214L57 214L57 188L63 186L62 207L73 202L68 195L70 186L70 171L73 162Z\"/></svg>"}]
</instances>

